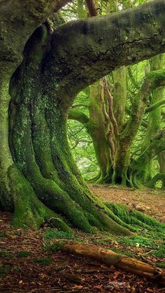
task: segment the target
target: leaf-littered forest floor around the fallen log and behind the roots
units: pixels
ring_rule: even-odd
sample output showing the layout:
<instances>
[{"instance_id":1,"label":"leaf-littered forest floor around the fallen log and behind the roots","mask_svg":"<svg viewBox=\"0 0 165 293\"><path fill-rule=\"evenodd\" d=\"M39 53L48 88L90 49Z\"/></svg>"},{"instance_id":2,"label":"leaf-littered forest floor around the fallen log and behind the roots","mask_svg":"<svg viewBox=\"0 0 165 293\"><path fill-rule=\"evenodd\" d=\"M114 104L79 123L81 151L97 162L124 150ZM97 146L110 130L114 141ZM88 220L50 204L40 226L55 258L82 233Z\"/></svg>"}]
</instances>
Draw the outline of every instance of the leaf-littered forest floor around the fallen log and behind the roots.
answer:
<instances>
[{"instance_id":1,"label":"leaf-littered forest floor around the fallen log and behind the roots","mask_svg":"<svg viewBox=\"0 0 165 293\"><path fill-rule=\"evenodd\" d=\"M164 192L145 192L90 185L103 201L126 203L164 222ZM39 231L10 226L11 214L0 213L0 292L165 292L165 288L145 278L125 273L91 259L50 250L57 238L92 243L138 257L159 266L165 255L162 239L110 236L109 234L66 234L51 227ZM159 249L157 249L159 248Z\"/></svg>"}]
</instances>

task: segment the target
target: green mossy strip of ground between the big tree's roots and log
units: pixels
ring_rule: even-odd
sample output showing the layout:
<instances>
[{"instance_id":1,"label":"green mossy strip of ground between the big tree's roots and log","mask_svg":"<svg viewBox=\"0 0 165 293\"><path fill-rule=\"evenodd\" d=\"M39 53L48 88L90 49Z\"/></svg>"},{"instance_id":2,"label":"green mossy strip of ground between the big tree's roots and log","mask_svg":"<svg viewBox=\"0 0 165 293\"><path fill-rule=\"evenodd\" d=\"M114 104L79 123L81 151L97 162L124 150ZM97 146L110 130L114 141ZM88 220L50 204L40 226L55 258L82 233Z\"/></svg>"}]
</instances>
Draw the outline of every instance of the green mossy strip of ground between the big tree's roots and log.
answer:
<instances>
[{"instance_id":1,"label":"green mossy strip of ground between the big tree's roots and log","mask_svg":"<svg viewBox=\"0 0 165 293\"><path fill-rule=\"evenodd\" d=\"M152 259L152 262L156 265L158 260L155 257L157 257L161 265L165 257L165 224L128 206L117 203L107 203L107 206L113 210L115 215L120 216L121 220L131 225L131 228L134 229L134 234L131 234L131 236L116 236L108 232L101 232L92 235L82 234L78 231L74 231L74 234L69 234L48 228L43 235L44 241L47 243L45 250L59 250L57 246L53 246L53 240L64 238L103 245L115 252L129 257L138 257L141 260L147 257L149 261Z\"/></svg>"}]
</instances>

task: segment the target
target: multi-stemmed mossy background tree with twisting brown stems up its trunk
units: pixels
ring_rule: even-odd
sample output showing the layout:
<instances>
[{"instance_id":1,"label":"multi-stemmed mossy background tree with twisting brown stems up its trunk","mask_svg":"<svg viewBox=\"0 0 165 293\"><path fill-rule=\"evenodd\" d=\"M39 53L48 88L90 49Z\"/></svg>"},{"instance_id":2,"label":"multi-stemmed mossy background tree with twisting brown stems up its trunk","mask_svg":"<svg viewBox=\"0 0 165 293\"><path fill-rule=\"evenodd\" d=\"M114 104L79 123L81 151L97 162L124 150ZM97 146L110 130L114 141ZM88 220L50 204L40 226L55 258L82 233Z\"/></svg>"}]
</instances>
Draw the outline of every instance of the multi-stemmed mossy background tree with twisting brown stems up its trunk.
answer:
<instances>
[{"instance_id":1,"label":"multi-stemmed mossy background tree with twisting brown stems up its trunk","mask_svg":"<svg viewBox=\"0 0 165 293\"><path fill-rule=\"evenodd\" d=\"M97 14L94 2L87 1L87 6L91 16ZM110 3L108 3L108 8L110 11L116 11L117 1L110 1ZM160 57L160 59L163 59L163 57ZM157 66L157 69L163 69L163 66ZM154 71L156 69L151 68L151 70ZM131 69L128 69L128 71L134 83ZM158 73L160 76L160 71ZM156 78L156 72L154 74ZM159 79L159 76L157 75L157 79ZM148 180L147 178L143 180L144 171L140 171L140 169L144 169L143 164L139 164L139 166L137 162L136 164L135 162L131 164L131 146L141 126L150 94L152 94L155 87L157 87L157 91L159 91L160 85L163 85L162 80L160 80L159 84L159 82L155 83L155 80L150 77L153 76L146 76L142 87L138 87L138 93L132 98L131 115L127 121L125 119L125 110L127 106L126 66L122 66L120 69L113 71L113 86L110 85L110 90L108 89L108 83L106 81L108 78L104 78L100 80L100 82L97 81L90 86L89 117L87 117L85 113L80 112L80 110L75 110L75 108L70 110L69 118L78 120L84 124L87 132L92 137L94 151L100 169L98 175L91 179L92 182L117 183L131 187L139 187L141 183L148 183L148 180L150 180L150 178ZM163 78L164 71L162 71L162 79ZM137 87L136 83L135 86ZM113 92L113 97L111 92ZM160 104L157 106L160 106ZM152 132L152 130L150 130L150 132ZM148 134L146 140L148 140L149 137L150 134ZM148 144L145 145L143 146L143 151L148 147ZM159 150L157 150L157 152L159 152ZM141 157L141 159L142 158L143 157ZM139 162L141 163L141 160Z\"/></svg>"}]
</instances>

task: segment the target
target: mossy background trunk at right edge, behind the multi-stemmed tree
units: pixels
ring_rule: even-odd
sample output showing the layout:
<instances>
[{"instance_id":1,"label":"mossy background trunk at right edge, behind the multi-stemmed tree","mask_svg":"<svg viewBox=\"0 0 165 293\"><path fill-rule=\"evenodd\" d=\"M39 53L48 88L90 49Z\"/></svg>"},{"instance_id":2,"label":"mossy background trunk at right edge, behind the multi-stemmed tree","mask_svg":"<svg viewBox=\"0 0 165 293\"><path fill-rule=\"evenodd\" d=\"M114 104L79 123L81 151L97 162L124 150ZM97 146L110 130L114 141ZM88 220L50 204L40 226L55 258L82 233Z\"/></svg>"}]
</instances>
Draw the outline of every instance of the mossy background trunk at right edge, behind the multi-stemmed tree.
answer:
<instances>
[{"instance_id":1,"label":"mossy background trunk at right edge, behind the multi-stemmed tree","mask_svg":"<svg viewBox=\"0 0 165 293\"><path fill-rule=\"evenodd\" d=\"M152 57L150 69L151 71L157 71L164 69L164 55L157 55ZM145 135L145 140L142 145L142 154L136 160L136 169L134 170L134 179L136 178L136 183L138 186L146 185L152 179L152 159L153 151L152 145L155 136L159 134L160 131L160 124L161 124L161 101L164 97L164 87L157 87L151 94L150 99L151 106L147 108L146 112L149 112L148 117L148 127ZM150 151L149 151L150 150ZM157 148L157 152L154 151L155 157L159 154L159 148ZM163 173L163 171L162 171Z\"/></svg>"}]
</instances>

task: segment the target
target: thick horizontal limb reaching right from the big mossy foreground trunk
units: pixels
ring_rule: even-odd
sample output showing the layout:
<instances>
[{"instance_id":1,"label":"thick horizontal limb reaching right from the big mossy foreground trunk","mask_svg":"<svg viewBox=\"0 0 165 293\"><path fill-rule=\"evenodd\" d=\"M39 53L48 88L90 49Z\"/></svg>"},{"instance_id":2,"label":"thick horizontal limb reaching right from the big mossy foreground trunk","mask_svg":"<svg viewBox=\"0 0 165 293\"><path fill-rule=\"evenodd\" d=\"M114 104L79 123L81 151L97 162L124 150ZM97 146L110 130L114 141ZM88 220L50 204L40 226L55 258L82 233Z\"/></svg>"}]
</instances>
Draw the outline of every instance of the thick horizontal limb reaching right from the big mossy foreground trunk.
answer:
<instances>
[{"instance_id":1,"label":"thick horizontal limb reaching right from the big mossy foreground trunk","mask_svg":"<svg viewBox=\"0 0 165 293\"><path fill-rule=\"evenodd\" d=\"M155 0L113 15L64 24L52 36L45 64L47 81L51 73L52 80L61 81L59 89L71 97L118 66L164 52L164 11L164 0Z\"/></svg>"}]
</instances>

